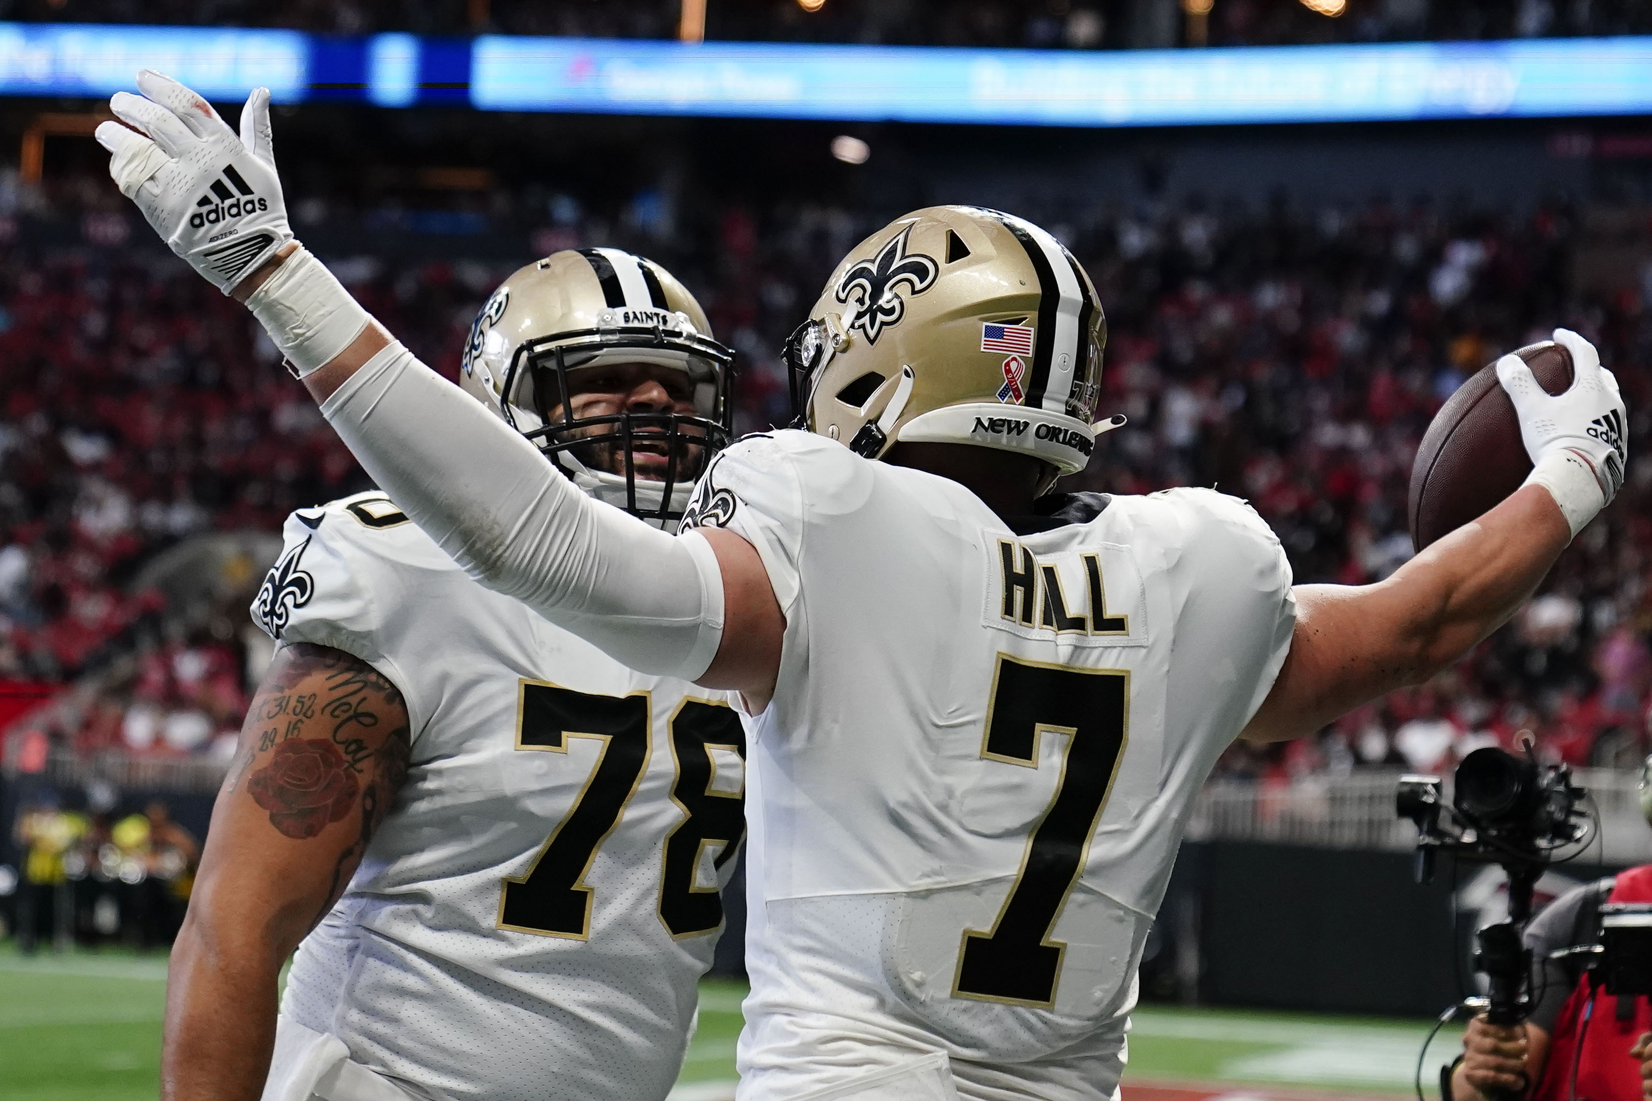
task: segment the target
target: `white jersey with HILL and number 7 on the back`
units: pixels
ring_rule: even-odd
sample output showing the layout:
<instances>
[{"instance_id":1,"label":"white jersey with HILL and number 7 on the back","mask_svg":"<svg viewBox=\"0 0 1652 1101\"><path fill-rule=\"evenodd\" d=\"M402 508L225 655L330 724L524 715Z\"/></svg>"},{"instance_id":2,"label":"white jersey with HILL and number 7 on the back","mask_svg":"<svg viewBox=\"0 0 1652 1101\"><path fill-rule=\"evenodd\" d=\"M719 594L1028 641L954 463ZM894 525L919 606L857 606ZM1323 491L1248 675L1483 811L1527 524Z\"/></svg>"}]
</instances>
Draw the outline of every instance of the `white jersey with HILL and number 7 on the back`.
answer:
<instances>
[{"instance_id":1,"label":"white jersey with HILL and number 7 on the back","mask_svg":"<svg viewBox=\"0 0 1652 1101\"><path fill-rule=\"evenodd\" d=\"M1112 1096L1191 802L1295 626L1211 490L1067 497L1013 532L957 482L747 437L687 523L786 614L747 725L743 1099L945 1051L965 1098Z\"/></svg>"}]
</instances>

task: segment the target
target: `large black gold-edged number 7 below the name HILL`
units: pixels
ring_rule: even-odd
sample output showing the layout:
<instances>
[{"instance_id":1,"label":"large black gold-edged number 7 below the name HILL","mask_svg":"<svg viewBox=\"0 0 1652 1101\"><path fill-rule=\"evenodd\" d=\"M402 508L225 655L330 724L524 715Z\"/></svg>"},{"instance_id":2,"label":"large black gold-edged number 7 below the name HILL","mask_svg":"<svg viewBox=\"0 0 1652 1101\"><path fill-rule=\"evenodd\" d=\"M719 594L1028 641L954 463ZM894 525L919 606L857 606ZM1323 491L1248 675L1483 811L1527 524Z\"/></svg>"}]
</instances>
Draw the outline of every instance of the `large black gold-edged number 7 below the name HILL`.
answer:
<instances>
[{"instance_id":1,"label":"large black gold-edged number 7 below the name HILL","mask_svg":"<svg viewBox=\"0 0 1652 1101\"><path fill-rule=\"evenodd\" d=\"M1044 735L1067 735L1056 797L1032 829L991 929L965 929L957 997L1051 1007L1067 946L1052 939L1128 741L1130 673L998 655L981 756L1037 768Z\"/></svg>"}]
</instances>

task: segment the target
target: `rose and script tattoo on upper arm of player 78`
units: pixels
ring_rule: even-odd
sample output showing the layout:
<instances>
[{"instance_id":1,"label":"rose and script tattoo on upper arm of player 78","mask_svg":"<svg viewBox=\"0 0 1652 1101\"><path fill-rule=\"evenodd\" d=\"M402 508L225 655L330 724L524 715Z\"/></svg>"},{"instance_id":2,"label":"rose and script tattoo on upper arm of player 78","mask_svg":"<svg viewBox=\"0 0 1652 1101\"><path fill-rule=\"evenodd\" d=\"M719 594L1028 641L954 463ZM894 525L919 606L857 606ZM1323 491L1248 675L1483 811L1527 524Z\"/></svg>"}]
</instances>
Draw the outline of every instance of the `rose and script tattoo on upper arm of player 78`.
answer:
<instances>
[{"instance_id":1,"label":"rose and script tattoo on upper arm of player 78","mask_svg":"<svg viewBox=\"0 0 1652 1101\"><path fill-rule=\"evenodd\" d=\"M327 890L319 921L337 901L378 824L406 781L408 711L393 683L367 662L325 645L284 647L246 713L241 761L230 787L246 794L282 837L319 839ZM349 834L329 830L355 820Z\"/></svg>"}]
</instances>

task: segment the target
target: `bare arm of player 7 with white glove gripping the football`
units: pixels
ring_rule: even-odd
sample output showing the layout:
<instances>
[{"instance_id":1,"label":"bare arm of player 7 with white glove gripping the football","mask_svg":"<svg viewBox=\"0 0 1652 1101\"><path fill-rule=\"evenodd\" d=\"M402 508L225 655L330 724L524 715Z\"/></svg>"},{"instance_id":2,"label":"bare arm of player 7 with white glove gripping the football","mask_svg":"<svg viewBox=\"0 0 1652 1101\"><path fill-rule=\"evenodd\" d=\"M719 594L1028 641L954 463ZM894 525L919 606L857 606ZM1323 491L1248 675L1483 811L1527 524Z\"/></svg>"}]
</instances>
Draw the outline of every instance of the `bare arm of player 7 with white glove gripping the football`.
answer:
<instances>
[{"instance_id":1,"label":"bare arm of player 7 with white glove gripping the football","mask_svg":"<svg viewBox=\"0 0 1652 1101\"><path fill-rule=\"evenodd\" d=\"M1274 690L1241 736L1310 735L1376 697L1427 680L1508 622L1559 553L1617 494L1624 444L1591 423L1624 403L1594 347L1555 330L1574 380L1551 396L1513 355L1497 363L1535 469L1480 517L1366 586L1298 586L1297 629ZM1627 421L1627 418L1624 418Z\"/></svg>"}]
</instances>

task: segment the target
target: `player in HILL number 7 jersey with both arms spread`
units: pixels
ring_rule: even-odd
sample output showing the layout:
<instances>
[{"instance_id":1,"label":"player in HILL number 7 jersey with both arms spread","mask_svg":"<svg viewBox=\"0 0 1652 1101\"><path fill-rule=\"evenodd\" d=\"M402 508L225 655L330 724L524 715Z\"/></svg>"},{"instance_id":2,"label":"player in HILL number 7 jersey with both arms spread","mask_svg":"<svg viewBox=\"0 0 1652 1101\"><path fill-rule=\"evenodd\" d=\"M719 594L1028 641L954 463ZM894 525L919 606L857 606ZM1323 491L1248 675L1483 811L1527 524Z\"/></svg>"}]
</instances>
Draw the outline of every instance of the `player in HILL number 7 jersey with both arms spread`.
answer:
<instances>
[{"instance_id":1,"label":"player in HILL number 7 jersey with both arms spread","mask_svg":"<svg viewBox=\"0 0 1652 1101\"><path fill-rule=\"evenodd\" d=\"M114 178L413 522L621 662L740 692L743 1101L1113 1096L1142 943L1222 748L1444 669L1622 482L1621 437L1591 431L1622 418L1616 380L1556 330L1564 395L1498 363L1526 485L1379 584L1292 586L1260 518L1211 490L1049 495L1120 423L1094 419L1100 304L1037 226L947 206L844 259L788 347L808 431L724 451L672 538L547 479L284 218L221 264L192 188L223 165L279 180L259 124L240 142L173 89L145 87L195 139L173 155L104 124Z\"/></svg>"}]
</instances>

